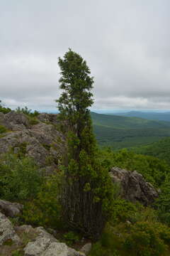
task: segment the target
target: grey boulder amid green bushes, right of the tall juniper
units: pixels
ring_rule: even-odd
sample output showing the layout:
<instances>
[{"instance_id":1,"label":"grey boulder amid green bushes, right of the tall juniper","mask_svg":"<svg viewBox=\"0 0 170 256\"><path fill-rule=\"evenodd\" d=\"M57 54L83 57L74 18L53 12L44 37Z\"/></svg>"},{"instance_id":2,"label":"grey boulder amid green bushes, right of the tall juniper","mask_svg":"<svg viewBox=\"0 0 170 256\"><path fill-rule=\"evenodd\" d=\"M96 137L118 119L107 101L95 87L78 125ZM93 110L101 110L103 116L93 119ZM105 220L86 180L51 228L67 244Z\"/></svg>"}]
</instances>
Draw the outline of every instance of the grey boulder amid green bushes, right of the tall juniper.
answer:
<instances>
[{"instance_id":1,"label":"grey boulder amid green bushes, right of the tall juniper","mask_svg":"<svg viewBox=\"0 0 170 256\"><path fill-rule=\"evenodd\" d=\"M139 201L147 206L158 197L152 184L145 181L142 174L138 174L137 171L113 167L110 176L114 183L120 184L121 196L129 201Z\"/></svg>"}]
</instances>

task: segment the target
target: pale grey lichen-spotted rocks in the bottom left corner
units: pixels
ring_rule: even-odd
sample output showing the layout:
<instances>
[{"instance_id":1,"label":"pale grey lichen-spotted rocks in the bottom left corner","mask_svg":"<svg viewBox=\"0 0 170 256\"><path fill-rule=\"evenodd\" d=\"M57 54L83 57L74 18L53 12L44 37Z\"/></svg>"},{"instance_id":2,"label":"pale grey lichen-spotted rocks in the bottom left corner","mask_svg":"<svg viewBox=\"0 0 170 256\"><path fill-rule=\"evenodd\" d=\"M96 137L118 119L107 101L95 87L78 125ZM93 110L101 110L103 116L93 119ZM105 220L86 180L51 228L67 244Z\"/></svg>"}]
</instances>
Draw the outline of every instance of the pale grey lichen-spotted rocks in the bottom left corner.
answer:
<instances>
[{"instance_id":1,"label":"pale grey lichen-spotted rocks in the bottom left corner","mask_svg":"<svg viewBox=\"0 0 170 256\"><path fill-rule=\"evenodd\" d=\"M0 254L9 256L14 251L24 256L86 256L58 241L42 227L21 225L13 228L11 221L0 213Z\"/></svg>"}]
</instances>

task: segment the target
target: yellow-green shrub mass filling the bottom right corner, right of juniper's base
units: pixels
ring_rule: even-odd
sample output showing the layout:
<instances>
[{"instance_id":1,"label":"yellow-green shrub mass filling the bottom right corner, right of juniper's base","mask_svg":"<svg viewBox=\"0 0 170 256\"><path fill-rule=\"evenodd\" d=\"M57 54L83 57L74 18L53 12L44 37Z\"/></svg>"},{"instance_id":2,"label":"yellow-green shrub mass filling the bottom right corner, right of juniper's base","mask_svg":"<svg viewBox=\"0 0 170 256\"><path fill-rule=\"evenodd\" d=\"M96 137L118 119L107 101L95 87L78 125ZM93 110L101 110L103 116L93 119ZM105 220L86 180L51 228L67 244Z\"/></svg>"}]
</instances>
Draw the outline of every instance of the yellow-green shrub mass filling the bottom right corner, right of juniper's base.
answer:
<instances>
[{"instance_id":1,"label":"yellow-green shrub mass filling the bottom right corner, right of juniper's base","mask_svg":"<svg viewBox=\"0 0 170 256\"><path fill-rule=\"evenodd\" d=\"M169 255L170 230L157 221L156 210L123 200L116 201L114 208L114 218L93 245L90 256Z\"/></svg>"}]
</instances>

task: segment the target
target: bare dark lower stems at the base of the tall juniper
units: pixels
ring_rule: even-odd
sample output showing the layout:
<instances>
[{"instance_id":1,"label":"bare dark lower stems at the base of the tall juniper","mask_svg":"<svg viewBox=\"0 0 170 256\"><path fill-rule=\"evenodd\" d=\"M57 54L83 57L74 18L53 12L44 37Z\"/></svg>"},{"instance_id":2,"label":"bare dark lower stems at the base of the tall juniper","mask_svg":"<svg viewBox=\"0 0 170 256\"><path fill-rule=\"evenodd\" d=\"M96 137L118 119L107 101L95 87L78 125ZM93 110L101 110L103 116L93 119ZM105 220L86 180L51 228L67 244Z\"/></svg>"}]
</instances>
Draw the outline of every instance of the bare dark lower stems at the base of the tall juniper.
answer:
<instances>
[{"instance_id":1,"label":"bare dark lower stems at the base of the tall juniper","mask_svg":"<svg viewBox=\"0 0 170 256\"><path fill-rule=\"evenodd\" d=\"M64 219L69 227L97 240L105 224L102 203L94 202L94 194L84 191L84 181L79 177L67 183L62 198Z\"/></svg>"}]
</instances>

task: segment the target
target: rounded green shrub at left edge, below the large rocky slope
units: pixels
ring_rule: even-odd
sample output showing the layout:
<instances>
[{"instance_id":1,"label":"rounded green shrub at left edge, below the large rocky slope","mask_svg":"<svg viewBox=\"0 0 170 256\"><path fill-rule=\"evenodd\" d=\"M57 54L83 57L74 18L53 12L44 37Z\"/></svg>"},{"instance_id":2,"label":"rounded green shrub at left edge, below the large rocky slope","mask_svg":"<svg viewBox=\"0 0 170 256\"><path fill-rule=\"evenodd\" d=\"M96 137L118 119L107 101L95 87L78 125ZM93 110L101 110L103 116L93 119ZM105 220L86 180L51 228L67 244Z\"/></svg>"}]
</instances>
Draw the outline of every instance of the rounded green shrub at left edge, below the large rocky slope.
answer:
<instances>
[{"instance_id":1,"label":"rounded green shrub at left edge, below the large rocky slope","mask_svg":"<svg viewBox=\"0 0 170 256\"><path fill-rule=\"evenodd\" d=\"M6 154L0 160L0 197L8 201L34 198L40 190L42 174L33 159Z\"/></svg>"}]
</instances>

